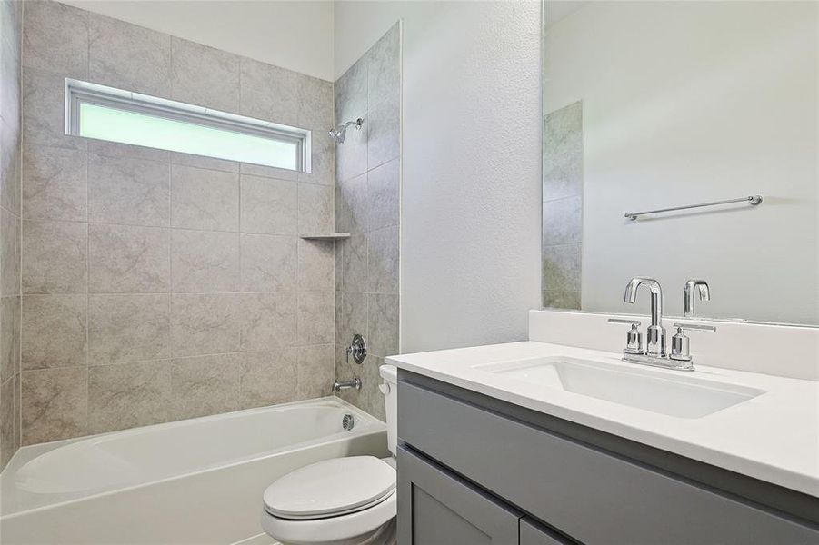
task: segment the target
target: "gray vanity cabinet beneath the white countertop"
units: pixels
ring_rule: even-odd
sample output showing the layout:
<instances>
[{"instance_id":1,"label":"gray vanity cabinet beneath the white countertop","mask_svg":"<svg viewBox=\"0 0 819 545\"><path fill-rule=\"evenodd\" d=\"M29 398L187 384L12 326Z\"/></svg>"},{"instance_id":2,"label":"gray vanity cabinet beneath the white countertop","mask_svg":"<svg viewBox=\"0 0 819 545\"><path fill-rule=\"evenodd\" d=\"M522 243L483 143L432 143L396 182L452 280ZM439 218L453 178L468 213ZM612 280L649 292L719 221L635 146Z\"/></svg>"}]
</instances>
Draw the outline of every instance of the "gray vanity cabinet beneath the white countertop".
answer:
<instances>
[{"instance_id":1,"label":"gray vanity cabinet beneath the white countertop","mask_svg":"<svg viewBox=\"0 0 819 545\"><path fill-rule=\"evenodd\" d=\"M399 545L819 545L814 497L406 372L398 439Z\"/></svg>"}]
</instances>

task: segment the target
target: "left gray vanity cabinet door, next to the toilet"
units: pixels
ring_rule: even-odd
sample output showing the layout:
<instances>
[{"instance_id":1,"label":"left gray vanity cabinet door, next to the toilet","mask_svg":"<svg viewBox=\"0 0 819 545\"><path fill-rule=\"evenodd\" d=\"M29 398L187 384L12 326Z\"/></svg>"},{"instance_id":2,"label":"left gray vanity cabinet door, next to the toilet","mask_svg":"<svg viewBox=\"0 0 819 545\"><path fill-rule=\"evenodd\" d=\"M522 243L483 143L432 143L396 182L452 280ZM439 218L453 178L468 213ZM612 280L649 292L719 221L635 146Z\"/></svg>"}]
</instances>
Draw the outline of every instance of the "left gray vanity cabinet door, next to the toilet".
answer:
<instances>
[{"instance_id":1,"label":"left gray vanity cabinet door, next to the toilet","mask_svg":"<svg viewBox=\"0 0 819 545\"><path fill-rule=\"evenodd\" d=\"M517 545L519 520L484 491L398 448L401 545Z\"/></svg>"}]
</instances>

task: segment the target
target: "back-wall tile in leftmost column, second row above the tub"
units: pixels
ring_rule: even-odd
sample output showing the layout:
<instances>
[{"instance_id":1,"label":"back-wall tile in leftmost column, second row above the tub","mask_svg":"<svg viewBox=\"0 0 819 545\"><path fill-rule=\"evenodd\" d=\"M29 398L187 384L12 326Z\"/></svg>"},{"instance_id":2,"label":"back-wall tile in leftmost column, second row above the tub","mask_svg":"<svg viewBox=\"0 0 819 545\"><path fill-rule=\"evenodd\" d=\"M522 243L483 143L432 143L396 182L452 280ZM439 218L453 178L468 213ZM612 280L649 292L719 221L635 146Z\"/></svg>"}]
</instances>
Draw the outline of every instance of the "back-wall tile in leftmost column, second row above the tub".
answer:
<instances>
[{"instance_id":1,"label":"back-wall tile in leftmost column, second row above the tub","mask_svg":"<svg viewBox=\"0 0 819 545\"><path fill-rule=\"evenodd\" d=\"M86 363L85 295L26 295L23 298L23 369Z\"/></svg>"}]
</instances>

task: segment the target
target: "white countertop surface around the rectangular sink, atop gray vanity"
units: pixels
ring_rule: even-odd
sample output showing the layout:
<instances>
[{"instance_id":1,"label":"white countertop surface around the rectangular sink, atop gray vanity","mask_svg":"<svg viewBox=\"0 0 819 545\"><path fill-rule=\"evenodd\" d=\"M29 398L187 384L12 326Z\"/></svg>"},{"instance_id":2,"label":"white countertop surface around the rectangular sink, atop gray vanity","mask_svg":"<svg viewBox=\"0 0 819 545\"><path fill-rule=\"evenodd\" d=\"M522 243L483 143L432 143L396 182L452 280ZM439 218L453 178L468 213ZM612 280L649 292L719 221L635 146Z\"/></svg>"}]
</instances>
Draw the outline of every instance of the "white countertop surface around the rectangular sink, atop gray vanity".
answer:
<instances>
[{"instance_id":1,"label":"white countertop surface around the rectangular sink, atop gray vanity","mask_svg":"<svg viewBox=\"0 0 819 545\"><path fill-rule=\"evenodd\" d=\"M611 401L530 384L475 365L567 357L632 369L699 377L764 390L754 399L702 418L644 411ZM620 354L546 342L510 342L420 352L386 363L527 409L612 433L819 497L819 382L718 367L679 372L620 361Z\"/></svg>"}]
</instances>

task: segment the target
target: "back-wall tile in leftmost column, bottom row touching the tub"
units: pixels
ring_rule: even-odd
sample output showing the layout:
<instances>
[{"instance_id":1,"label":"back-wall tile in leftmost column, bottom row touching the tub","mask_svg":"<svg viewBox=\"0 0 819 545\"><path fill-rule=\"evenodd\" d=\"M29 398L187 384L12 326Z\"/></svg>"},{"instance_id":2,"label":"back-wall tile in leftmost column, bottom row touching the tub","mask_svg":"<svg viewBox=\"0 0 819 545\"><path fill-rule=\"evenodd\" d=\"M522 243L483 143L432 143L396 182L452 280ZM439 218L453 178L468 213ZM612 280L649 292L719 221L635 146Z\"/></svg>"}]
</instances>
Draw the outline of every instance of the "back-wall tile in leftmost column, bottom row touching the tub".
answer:
<instances>
[{"instance_id":1,"label":"back-wall tile in leftmost column, bottom row touching the tub","mask_svg":"<svg viewBox=\"0 0 819 545\"><path fill-rule=\"evenodd\" d=\"M22 375L23 441L31 445L88 432L85 367L25 371Z\"/></svg>"}]
</instances>

